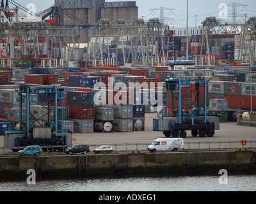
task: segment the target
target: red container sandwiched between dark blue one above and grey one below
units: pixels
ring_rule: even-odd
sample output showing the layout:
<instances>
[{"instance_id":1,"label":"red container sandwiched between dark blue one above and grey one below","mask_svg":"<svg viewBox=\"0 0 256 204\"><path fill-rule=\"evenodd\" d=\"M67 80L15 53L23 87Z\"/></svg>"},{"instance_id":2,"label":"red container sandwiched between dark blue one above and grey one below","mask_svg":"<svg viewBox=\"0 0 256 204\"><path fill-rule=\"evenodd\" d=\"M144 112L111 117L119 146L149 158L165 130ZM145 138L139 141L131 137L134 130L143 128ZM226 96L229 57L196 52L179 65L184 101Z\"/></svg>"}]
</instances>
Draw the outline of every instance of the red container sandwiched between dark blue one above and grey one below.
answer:
<instances>
[{"instance_id":1,"label":"red container sandwiched between dark blue one above and grey one below","mask_svg":"<svg viewBox=\"0 0 256 204\"><path fill-rule=\"evenodd\" d=\"M67 117L72 119L94 119L94 106L67 105Z\"/></svg>"}]
</instances>

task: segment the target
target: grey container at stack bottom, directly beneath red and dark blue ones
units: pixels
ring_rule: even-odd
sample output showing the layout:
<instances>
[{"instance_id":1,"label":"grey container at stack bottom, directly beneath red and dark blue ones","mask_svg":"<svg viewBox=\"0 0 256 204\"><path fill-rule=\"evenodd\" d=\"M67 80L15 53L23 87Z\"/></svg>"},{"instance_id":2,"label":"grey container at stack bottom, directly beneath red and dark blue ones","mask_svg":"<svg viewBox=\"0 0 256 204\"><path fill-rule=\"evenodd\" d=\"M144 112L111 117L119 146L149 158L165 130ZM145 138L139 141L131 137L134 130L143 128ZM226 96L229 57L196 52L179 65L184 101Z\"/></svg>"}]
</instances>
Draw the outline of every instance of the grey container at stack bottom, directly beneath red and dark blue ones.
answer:
<instances>
[{"instance_id":1,"label":"grey container at stack bottom, directly beneath red and dark blue ones","mask_svg":"<svg viewBox=\"0 0 256 204\"><path fill-rule=\"evenodd\" d=\"M68 120L74 121L74 132L76 133L93 133L93 124L94 120L80 120L80 119L70 119Z\"/></svg>"}]
</instances>

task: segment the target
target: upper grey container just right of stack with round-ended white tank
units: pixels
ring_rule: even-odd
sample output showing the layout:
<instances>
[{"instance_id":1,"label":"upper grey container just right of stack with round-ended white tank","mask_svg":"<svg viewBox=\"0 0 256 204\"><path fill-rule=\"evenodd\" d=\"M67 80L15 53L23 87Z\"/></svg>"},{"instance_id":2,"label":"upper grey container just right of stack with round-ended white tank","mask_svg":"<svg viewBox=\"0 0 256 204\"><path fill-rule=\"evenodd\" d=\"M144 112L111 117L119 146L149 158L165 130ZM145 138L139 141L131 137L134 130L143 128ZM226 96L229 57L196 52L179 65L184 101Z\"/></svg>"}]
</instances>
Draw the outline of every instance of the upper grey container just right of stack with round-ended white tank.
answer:
<instances>
[{"instance_id":1,"label":"upper grey container just right of stack with round-ended white tank","mask_svg":"<svg viewBox=\"0 0 256 204\"><path fill-rule=\"evenodd\" d=\"M113 108L115 119L132 119L133 105L107 105L108 108Z\"/></svg>"}]
</instances>

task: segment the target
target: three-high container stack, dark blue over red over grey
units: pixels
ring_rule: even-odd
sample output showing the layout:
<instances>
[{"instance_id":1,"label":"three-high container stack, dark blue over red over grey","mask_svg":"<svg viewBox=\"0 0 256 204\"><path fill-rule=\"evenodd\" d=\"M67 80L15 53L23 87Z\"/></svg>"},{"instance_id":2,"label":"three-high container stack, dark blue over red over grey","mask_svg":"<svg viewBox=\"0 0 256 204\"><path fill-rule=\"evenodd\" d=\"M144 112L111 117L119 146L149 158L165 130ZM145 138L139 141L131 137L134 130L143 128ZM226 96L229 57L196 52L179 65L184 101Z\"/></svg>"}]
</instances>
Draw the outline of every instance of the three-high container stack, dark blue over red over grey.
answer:
<instances>
[{"instance_id":1,"label":"three-high container stack, dark blue over red over grey","mask_svg":"<svg viewBox=\"0 0 256 204\"><path fill-rule=\"evenodd\" d=\"M67 120L74 122L74 132L93 133L93 93L81 91L67 92Z\"/></svg>"}]
</instances>

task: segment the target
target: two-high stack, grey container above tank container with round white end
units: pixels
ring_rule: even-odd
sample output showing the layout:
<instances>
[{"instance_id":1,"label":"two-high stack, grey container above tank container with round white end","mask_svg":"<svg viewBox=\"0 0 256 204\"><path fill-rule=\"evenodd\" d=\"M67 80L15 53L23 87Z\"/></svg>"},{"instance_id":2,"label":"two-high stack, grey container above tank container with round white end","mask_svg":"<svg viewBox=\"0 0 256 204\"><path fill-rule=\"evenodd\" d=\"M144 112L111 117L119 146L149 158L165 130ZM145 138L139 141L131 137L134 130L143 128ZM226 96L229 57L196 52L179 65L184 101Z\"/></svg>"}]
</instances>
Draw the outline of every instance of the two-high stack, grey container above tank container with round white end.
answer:
<instances>
[{"instance_id":1,"label":"two-high stack, grey container above tank container with round white end","mask_svg":"<svg viewBox=\"0 0 256 204\"><path fill-rule=\"evenodd\" d=\"M95 108L95 131L113 133L113 108Z\"/></svg>"}]
</instances>

